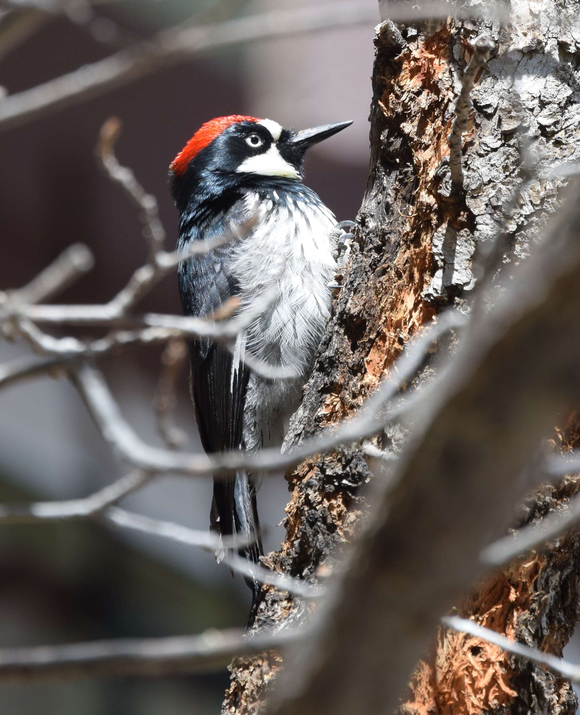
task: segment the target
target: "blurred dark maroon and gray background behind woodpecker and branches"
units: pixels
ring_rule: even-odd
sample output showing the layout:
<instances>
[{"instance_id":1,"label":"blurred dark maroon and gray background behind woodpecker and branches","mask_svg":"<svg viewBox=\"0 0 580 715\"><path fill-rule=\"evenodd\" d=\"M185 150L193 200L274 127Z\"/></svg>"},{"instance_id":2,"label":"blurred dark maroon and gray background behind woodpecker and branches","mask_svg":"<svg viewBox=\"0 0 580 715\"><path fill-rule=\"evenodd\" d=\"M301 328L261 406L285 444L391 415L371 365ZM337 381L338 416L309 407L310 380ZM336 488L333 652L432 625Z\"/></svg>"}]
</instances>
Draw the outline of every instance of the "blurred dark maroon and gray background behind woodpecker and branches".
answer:
<instances>
[{"instance_id":1,"label":"blurred dark maroon and gray background behind woodpecker and branches","mask_svg":"<svg viewBox=\"0 0 580 715\"><path fill-rule=\"evenodd\" d=\"M360 0L371 7L376 0ZM314 4L295 0L292 7ZM225 16L230 2L132 0L101 2L94 14L79 2L72 18L54 16L0 64L9 93L32 87L106 56L127 39L197 14ZM260 0L235 3L235 14L289 9ZM379 21L378 8L376 20ZM57 302L104 302L145 258L137 213L97 168L99 127L117 115L124 124L119 160L132 167L159 200L167 248L177 214L167 191L167 167L202 122L224 114L275 119L297 129L354 119L347 132L313 150L306 182L338 220L353 219L368 174L368 107L373 27L358 26L260 41L200 54L104 97L0 134L0 287L18 287L67 245L87 243L94 270ZM179 312L171 276L143 305ZM20 343L0 342L0 359L20 355ZM151 400L160 350L127 350L102 361L124 414L139 435L159 443ZM177 416L199 443L180 385ZM124 473L66 380L34 380L0 393L0 501L75 498ZM265 547L280 545L287 503L282 476L258 495ZM209 480L166 478L124 500L135 511L207 528ZM199 633L245 623L249 591L205 553L129 538L97 523L0 528L0 646L57 644L117 636ZM31 715L202 715L220 708L227 673L175 679L117 679L76 684L0 685L0 712Z\"/></svg>"}]
</instances>

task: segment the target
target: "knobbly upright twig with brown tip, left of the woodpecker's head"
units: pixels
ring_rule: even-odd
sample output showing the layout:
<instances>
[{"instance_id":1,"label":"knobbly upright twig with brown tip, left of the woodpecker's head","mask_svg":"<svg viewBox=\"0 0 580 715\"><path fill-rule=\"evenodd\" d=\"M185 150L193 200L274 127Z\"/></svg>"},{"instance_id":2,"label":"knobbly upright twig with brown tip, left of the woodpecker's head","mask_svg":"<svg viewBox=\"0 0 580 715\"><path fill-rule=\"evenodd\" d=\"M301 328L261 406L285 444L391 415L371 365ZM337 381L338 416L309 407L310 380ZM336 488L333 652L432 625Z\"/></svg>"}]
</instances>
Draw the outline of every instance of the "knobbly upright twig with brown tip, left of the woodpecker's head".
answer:
<instances>
[{"instance_id":1,"label":"knobbly upright twig with brown tip, left of the woodpecker's head","mask_svg":"<svg viewBox=\"0 0 580 715\"><path fill-rule=\"evenodd\" d=\"M137 181L134 172L119 164L114 147L121 133L122 123L117 117L107 119L101 127L99 143L95 152L104 170L112 181L119 184L129 199L141 209L139 218L144 224L143 235L149 245L149 262L154 262L157 252L163 249L165 230L159 220L157 199L148 194Z\"/></svg>"}]
</instances>

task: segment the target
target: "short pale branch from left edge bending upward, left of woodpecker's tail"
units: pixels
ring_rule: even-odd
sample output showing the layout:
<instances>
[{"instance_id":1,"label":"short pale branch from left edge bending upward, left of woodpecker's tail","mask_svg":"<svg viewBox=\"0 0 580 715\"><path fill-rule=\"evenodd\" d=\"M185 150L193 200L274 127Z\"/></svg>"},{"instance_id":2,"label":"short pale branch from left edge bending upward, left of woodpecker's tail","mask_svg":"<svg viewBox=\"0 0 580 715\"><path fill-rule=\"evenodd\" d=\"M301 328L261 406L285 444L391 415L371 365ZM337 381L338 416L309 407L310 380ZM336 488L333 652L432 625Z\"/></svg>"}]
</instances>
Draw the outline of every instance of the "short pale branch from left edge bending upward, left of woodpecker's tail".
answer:
<instances>
[{"instance_id":1,"label":"short pale branch from left edge bending upward, left of woodpecker's tail","mask_svg":"<svg viewBox=\"0 0 580 715\"><path fill-rule=\"evenodd\" d=\"M1 504L0 524L94 516L107 506L117 503L119 499L147 484L152 477L151 473L134 470L84 499L39 501L31 504Z\"/></svg>"}]
</instances>

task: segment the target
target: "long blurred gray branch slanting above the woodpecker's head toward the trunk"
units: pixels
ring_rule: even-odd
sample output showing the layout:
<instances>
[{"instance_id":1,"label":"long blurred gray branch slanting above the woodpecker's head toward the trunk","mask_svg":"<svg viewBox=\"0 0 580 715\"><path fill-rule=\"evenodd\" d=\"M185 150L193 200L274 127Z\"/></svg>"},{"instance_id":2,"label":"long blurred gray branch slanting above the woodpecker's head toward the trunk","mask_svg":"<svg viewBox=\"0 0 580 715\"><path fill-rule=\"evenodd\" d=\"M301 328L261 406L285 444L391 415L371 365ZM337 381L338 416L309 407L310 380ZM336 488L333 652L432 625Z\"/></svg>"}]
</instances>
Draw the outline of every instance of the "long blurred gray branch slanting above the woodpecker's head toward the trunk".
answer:
<instances>
[{"instance_id":1,"label":"long blurred gray branch slanting above the woodpecker's head toward the trunk","mask_svg":"<svg viewBox=\"0 0 580 715\"><path fill-rule=\"evenodd\" d=\"M152 71L187 61L200 51L356 24L374 25L378 12L355 1L280 10L206 26L159 32L152 41L12 94L0 102L0 129L10 129L57 109L117 89Z\"/></svg>"}]
</instances>

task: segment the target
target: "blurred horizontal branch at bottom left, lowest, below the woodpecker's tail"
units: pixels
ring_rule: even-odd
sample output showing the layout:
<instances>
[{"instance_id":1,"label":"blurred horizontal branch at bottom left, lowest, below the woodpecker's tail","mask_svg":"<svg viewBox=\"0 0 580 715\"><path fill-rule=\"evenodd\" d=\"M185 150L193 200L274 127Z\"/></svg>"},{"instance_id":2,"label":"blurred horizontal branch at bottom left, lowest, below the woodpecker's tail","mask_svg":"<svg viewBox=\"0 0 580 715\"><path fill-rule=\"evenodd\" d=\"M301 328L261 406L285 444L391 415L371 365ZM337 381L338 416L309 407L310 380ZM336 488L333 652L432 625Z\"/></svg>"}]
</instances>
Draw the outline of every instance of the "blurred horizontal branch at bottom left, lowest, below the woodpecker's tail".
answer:
<instances>
[{"instance_id":1,"label":"blurred horizontal branch at bottom left, lowest, below the woodpecker's tail","mask_svg":"<svg viewBox=\"0 0 580 715\"><path fill-rule=\"evenodd\" d=\"M247 638L242 629L212 629L200 636L119 638L66 646L4 648L0 649L0 681L212 671L225 668L233 656L278 649L301 636L297 631L282 631Z\"/></svg>"}]
</instances>

